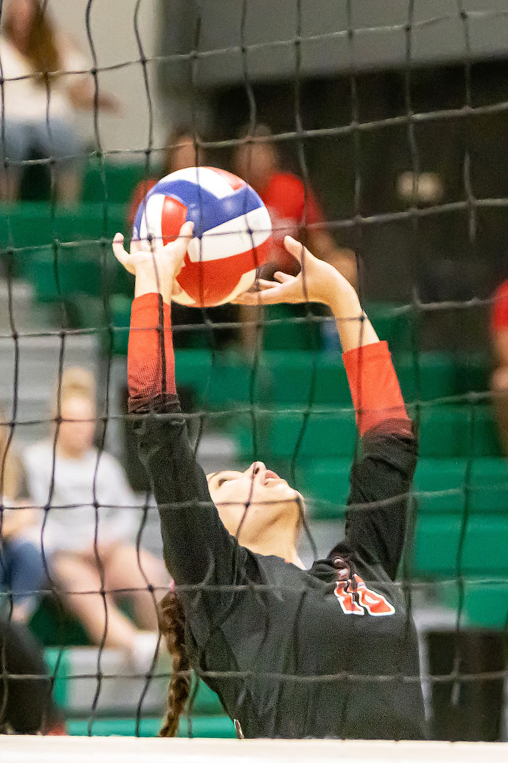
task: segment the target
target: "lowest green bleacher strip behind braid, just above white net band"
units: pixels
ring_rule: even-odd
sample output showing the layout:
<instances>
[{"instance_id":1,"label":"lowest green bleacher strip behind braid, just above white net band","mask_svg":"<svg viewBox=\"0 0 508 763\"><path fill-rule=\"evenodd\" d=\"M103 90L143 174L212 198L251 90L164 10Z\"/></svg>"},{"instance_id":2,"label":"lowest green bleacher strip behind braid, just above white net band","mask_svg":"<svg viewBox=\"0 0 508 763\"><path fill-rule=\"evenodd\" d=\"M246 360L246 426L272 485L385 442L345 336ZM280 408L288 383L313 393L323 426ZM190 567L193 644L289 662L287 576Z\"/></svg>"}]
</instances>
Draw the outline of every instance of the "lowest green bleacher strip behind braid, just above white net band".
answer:
<instances>
[{"instance_id":1,"label":"lowest green bleacher strip behind braid, just above white net band","mask_svg":"<svg viewBox=\"0 0 508 763\"><path fill-rule=\"evenodd\" d=\"M88 736L88 720L68 720L67 732L71 736ZM142 718L139 736L157 736L162 726L160 718ZM192 735L210 739L235 739L235 725L228 716L200 716L192 719ZM91 726L92 736L136 736L135 718L101 718ZM177 736L189 736L187 718L180 719Z\"/></svg>"}]
</instances>

